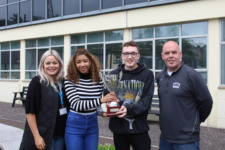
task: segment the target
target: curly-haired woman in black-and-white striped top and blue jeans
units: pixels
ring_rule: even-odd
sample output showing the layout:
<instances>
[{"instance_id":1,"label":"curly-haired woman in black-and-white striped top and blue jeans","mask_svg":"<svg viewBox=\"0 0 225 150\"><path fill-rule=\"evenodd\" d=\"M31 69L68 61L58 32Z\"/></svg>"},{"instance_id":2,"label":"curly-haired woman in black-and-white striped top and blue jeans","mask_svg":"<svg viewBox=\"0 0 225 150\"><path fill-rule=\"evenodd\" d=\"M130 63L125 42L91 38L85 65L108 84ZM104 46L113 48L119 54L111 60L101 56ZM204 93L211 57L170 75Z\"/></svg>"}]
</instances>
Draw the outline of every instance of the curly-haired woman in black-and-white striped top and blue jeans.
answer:
<instances>
[{"instance_id":1,"label":"curly-haired woman in black-and-white striped top and blue jeans","mask_svg":"<svg viewBox=\"0 0 225 150\"><path fill-rule=\"evenodd\" d=\"M102 97L100 63L86 49L78 49L70 59L65 91L70 103L65 141L67 150L97 150L97 107L117 101L114 93Z\"/></svg>"}]
</instances>

